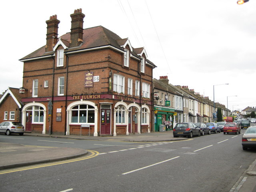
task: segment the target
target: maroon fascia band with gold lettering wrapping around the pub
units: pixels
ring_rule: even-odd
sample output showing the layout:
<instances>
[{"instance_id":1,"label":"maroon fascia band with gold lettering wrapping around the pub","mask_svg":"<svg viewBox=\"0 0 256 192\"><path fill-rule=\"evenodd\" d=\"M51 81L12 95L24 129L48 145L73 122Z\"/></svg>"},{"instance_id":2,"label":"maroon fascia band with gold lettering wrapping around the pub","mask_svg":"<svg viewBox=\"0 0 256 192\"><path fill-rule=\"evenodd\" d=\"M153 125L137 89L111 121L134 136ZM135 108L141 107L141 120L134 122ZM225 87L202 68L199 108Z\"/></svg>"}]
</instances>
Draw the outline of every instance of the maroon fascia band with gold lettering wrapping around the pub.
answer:
<instances>
[{"instance_id":1,"label":"maroon fascia band with gold lettering wrapping around the pub","mask_svg":"<svg viewBox=\"0 0 256 192\"><path fill-rule=\"evenodd\" d=\"M94 95L100 95L100 98L96 98L96 99L86 99L86 100L102 100L102 99L113 99L113 95L111 94L94 94ZM114 100L120 100L121 99L118 99L118 95L114 95ZM125 97L125 96L121 96L121 97ZM138 98L133 98L133 97L125 97L125 98L132 98L134 99L134 102L135 103L140 103L140 99ZM46 102L48 101L47 99L52 99L52 97L34 97L34 98L22 98L22 102ZM68 101L79 101L80 99L73 99L72 96L56 96L56 97L53 97L53 101L65 101L65 100L68 100ZM125 102L131 102L131 101L127 101L127 100L123 100ZM147 100L146 101L148 105L151 105L152 102L150 100ZM142 103L144 104L144 103Z\"/></svg>"}]
</instances>

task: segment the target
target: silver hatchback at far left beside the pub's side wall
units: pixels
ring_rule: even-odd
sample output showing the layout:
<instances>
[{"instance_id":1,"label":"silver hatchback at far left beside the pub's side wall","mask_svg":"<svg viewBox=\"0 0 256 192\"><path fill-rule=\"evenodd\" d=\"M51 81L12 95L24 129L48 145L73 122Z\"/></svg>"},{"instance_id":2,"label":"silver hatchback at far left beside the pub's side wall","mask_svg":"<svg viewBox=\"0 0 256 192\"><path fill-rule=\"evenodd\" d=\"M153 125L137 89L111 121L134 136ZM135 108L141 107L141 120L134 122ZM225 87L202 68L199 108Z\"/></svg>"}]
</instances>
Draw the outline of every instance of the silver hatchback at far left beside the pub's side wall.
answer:
<instances>
[{"instance_id":1,"label":"silver hatchback at far left beside the pub's side wall","mask_svg":"<svg viewBox=\"0 0 256 192\"><path fill-rule=\"evenodd\" d=\"M0 133L5 133L6 135L17 133L23 135L24 131L24 126L20 122L5 121L0 123Z\"/></svg>"}]
</instances>

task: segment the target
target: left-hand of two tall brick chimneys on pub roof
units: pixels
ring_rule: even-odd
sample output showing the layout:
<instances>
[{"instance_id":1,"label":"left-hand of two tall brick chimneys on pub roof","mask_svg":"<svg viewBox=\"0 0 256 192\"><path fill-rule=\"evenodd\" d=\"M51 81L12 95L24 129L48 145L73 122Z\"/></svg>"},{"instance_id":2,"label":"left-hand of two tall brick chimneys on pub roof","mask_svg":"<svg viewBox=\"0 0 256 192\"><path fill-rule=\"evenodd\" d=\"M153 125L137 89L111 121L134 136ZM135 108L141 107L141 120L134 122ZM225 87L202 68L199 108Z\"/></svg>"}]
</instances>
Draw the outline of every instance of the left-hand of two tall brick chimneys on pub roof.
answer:
<instances>
[{"instance_id":1,"label":"left-hand of two tall brick chimneys on pub roof","mask_svg":"<svg viewBox=\"0 0 256 192\"><path fill-rule=\"evenodd\" d=\"M57 19L57 15L50 16L50 20L46 21L46 47L45 52L52 51L58 40L58 24L60 21Z\"/></svg>"}]
</instances>

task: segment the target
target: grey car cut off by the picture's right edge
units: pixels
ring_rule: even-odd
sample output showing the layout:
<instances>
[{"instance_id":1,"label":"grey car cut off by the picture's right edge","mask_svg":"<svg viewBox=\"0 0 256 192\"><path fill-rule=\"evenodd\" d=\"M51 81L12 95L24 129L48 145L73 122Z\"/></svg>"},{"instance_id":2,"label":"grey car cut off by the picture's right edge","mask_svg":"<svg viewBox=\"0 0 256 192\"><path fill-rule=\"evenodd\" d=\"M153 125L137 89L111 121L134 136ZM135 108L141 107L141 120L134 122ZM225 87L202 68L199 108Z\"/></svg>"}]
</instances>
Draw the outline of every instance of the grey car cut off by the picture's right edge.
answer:
<instances>
[{"instance_id":1,"label":"grey car cut off by the picture's right edge","mask_svg":"<svg viewBox=\"0 0 256 192\"><path fill-rule=\"evenodd\" d=\"M256 127L249 127L242 136L243 150L249 147L256 147Z\"/></svg>"}]
</instances>

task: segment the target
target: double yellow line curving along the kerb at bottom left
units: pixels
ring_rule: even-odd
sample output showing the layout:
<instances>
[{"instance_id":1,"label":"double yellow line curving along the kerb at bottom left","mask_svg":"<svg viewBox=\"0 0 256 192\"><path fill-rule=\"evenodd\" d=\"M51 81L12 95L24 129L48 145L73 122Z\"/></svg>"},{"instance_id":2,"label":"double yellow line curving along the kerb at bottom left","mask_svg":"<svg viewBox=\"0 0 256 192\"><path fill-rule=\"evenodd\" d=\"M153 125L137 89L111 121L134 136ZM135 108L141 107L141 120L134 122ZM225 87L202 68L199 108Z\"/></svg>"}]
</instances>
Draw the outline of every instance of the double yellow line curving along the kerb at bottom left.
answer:
<instances>
[{"instance_id":1,"label":"double yellow line curving along the kerb at bottom left","mask_svg":"<svg viewBox=\"0 0 256 192\"><path fill-rule=\"evenodd\" d=\"M83 158L75 158L72 160L66 160L66 161L59 161L55 163L48 163L48 164L43 164L43 165L35 165L35 166L29 166L29 167L24 167L24 168L17 168L17 169L12 169L12 170L5 170L5 171L0 171L0 174L6 174L6 173L12 173L12 172L18 172L18 171L24 171L24 170L30 170L30 169L36 169L36 168L41 168L41 167L48 167L48 166L53 166L53 165L60 165L64 163L71 163L71 162L76 162L76 161L82 161L86 159L90 159L93 157L96 157L99 152L98 151L92 151L92 150L87 150L91 154L89 156L83 157Z\"/></svg>"}]
</instances>

